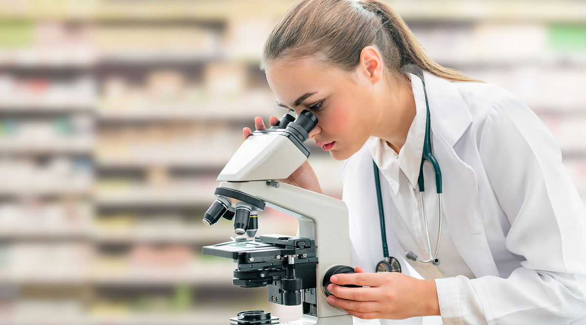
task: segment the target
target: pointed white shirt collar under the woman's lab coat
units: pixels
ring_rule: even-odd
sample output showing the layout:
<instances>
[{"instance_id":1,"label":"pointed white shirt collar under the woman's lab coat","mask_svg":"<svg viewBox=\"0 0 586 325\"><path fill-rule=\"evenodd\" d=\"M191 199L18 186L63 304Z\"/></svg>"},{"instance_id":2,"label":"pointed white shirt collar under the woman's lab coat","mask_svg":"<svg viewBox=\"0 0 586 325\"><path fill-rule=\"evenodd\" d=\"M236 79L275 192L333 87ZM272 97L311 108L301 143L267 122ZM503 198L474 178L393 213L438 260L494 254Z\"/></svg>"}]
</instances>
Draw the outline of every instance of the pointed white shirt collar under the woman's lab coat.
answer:
<instances>
[{"instance_id":1,"label":"pointed white shirt collar under the woman's lab coat","mask_svg":"<svg viewBox=\"0 0 586 325\"><path fill-rule=\"evenodd\" d=\"M401 150L399 150L398 155L395 150L381 138L371 136L366 141L370 155L372 155L380 172L383 173L387 179L395 196L397 196L399 190L398 180L401 170L409 180L413 189L417 189L421 156L423 156L425 117L427 111L427 108L425 107L425 95L421 79L414 74L410 74L410 77L417 112L407 133L405 144L401 147Z\"/></svg>"}]
</instances>

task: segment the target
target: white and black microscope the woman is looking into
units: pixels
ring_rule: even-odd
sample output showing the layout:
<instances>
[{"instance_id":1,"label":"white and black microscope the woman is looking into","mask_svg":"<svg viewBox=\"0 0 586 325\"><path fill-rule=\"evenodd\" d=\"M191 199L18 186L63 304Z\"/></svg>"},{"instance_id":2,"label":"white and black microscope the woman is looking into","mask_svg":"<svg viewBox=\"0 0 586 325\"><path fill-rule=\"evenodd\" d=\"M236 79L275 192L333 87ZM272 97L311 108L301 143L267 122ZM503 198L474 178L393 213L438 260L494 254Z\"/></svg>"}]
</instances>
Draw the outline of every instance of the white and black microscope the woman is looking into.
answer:
<instances>
[{"instance_id":1,"label":"white and black microscope the woman is looking into","mask_svg":"<svg viewBox=\"0 0 586 325\"><path fill-rule=\"evenodd\" d=\"M332 275L354 273L350 266L348 210L340 200L301 189L286 179L309 157L304 142L318 119L308 110L297 118L285 114L270 129L254 131L224 167L217 180L216 201L203 223L233 221L236 238L203 247L203 254L233 259L233 284L267 286L268 301L302 305L298 321L278 323L270 312L251 310L230 319L239 324L351 325L352 316L328 303ZM295 237L269 234L255 237L258 213L265 207L299 221ZM250 238L250 239L249 239Z\"/></svg>"}]
</instances>

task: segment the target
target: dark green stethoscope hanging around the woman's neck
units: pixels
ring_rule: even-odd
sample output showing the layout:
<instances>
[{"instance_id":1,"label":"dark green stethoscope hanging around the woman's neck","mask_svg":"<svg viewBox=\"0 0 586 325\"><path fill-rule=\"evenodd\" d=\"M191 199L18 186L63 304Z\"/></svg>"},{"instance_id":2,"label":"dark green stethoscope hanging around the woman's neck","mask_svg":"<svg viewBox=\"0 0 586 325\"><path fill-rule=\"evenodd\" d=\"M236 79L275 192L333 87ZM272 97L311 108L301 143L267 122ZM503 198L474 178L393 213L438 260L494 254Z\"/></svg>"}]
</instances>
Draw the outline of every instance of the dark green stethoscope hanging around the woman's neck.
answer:
<instances>
[{"instance_id":1,"label":"dark green stethoscope hanging around the woman's neck","mask_svg":"<svg viewBox=\"0 0 586 325\"><path fill-rule=\"evenodd\" d=\"M427 107L427 118L425 121L425 139L423 141L423 155L421 156L421 166L419 168L419 179L417 180L417 184L419 187L419 193L421 195L421 205L423 207L423 221L425 223L425 236L427 237L427 249L431 252L431 243L430 243L430 232L427 228L427 214L425 213L425 200L423 199L423 192L425 191L423 186L423 164L425 160L431 163L431 166L435 172L435 188L438 194L438 240L437 244L435 244L435 252L434 255L430 257L430 259L420 259L415 255L414 252L408 251L405 253L405 258L411 259L412 261L421 262L424 264L431 263L433 265L440 265L440 258L438 258L438 249L440 248L440 235L441 235L441 170L440 165L438 165L437 160L435 159L434 155L431 153L431 125L430 125L430 105L427 101L427 91L425 91L425 82L423 80L423 71L420 67L415 66L414 64L408 64L403 67L404 71L408 73L413 73L415 76L421 79L421 83L423 83L423 93L425 95L425 106ZM376 265L376 272L401 272L401 264L397 261L396 258L393 256L389 256L389 247L387 245L387 232L386 228L384 227L384 211L383 211L383 198L380 190L380 176L379 176L379 167L373 160L373 167L374 167L374 184L376 185L376 199L377 203L379 204L379 219L380 219L380 235L383 240L383 256L384 260L380 261L379 264Z\"/></svg>"}]
</instances>

